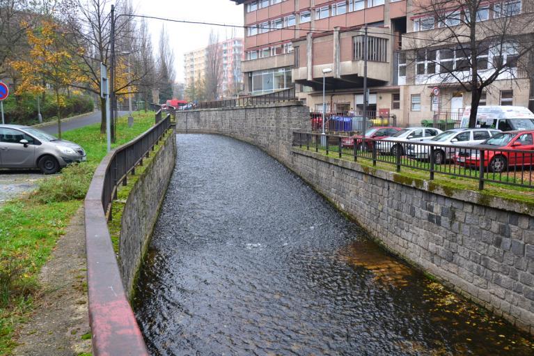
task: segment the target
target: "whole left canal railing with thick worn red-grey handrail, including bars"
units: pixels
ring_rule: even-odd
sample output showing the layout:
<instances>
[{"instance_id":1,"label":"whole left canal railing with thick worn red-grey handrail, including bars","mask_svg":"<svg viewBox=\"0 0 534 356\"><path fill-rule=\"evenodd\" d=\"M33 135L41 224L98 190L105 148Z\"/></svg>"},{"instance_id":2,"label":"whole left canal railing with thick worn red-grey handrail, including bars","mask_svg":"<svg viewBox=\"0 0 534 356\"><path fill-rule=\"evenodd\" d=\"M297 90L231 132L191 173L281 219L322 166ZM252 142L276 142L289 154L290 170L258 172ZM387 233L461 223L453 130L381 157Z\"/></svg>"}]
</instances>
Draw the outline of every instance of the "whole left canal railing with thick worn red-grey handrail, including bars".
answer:
<instances>
[{"instance_id":1,"label":"whole left canal railing with thick worn red-grey handrail, including bars","mask_svg":"<svg viewBox=\"0 0 534 356\"><path fill-rule=\"evenodd\" d=\"M118 185L127 184L128 173L135 173L135 167L143 164L170 126L167 115L136 139L112 150L91 180L84 209L93 355L148 355L120 278L107 219Z\"/></svg>"}]
</instances>

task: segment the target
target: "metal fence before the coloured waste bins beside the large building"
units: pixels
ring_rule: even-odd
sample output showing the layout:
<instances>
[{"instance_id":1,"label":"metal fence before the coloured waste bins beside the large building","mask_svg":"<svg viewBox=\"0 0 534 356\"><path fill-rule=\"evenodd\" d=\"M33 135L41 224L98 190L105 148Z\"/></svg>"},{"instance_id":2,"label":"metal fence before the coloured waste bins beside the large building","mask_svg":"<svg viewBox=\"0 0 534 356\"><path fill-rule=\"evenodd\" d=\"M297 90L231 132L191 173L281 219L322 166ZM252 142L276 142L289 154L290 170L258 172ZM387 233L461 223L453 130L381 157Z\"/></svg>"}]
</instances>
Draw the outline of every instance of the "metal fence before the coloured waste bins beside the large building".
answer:
<instances>
[{"instance_id":1,"label":"metal fence before the coloured waste bins beside the large building","mask_svg":"<svg viewBox=\"0 0 534 356\"><path fill-rule=\"evenodd\" d=\"M311 112L312 131L322 131L322 113ZM375 126L397 126L395 115L380 115L377 111L368 111L366 116L367 128ZM324 115L325 132L363 132L363 115L352 113L328 113Z\"/></svg>"}]
</instances>

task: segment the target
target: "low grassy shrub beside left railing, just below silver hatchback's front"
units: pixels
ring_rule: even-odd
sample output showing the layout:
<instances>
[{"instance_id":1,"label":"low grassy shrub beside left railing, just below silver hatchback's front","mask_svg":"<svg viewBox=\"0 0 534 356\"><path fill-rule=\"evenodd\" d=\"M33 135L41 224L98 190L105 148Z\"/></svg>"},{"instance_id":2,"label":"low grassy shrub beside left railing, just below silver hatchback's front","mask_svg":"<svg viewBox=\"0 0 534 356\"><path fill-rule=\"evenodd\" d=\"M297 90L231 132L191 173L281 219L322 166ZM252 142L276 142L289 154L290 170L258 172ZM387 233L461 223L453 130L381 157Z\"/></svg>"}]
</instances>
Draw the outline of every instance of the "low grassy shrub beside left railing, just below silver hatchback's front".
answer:
<instances>
[{"instance_id":1,"label":"low grassy shrub beside left railing, just below silver hatchback's front","mask_svg":"<svg viewBox=\"0 0 534 356\"><path fill-rule=\"evenodd\" d=\"M63 168L61 175L42 180L33 199L40 203L84 199L94 171L93 164L71 164Z\"/></svg>"}]
</instances>

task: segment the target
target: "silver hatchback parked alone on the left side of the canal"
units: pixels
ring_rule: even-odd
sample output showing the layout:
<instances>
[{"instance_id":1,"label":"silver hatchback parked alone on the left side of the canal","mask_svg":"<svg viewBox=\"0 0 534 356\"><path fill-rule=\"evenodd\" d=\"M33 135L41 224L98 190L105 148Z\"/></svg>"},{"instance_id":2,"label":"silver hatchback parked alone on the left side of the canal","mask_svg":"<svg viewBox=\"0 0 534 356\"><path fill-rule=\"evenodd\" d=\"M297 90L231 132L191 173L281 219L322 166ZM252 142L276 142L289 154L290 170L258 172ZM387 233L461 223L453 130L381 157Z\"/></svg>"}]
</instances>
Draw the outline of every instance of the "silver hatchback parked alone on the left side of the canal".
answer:
<instances>
[{"instance_id":1,"label":"silver hatchback parked alone on the left side of the canal","mask_svg":"<svg viewBox=\"0 0 534 356\"><path fill-rule=\"evenodd\" d=\"M53 174L74 162L87 160L81 146L21 125L0 125L0 168L38 168Z\"/></svg>"}]
</instances>

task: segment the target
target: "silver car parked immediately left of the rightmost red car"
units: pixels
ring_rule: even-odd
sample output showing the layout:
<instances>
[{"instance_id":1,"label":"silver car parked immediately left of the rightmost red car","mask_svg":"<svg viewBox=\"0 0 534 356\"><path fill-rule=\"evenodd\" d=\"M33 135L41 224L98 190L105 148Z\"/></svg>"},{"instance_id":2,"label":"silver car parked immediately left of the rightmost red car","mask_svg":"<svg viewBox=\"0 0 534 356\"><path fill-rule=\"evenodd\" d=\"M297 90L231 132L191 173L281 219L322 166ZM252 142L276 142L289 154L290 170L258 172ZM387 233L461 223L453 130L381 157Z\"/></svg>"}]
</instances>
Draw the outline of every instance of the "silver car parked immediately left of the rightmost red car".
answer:
<instances>
[{"instance_id":1,"label":"silver car parked immediately left of the rightmost red car","mask_svg":"<svg viewBox=\"0 0 534 356\"><path fill-rule=\"evenodd\" d=\"M500 132L501 130L482 128L452 129L441 132L441 134L433 137L432 139L425 139L421 141L421 143L446 146L436 147L433 151L434 162L441 164L448 160L453 160L457 152L455 146L471 146L481 144L483 141ZM408 157L412 157L417 160L428 160L430 158L429 152L430 146L423 145L411 144L408 145L407 149Z\"/></svg>"}]
</instances>

